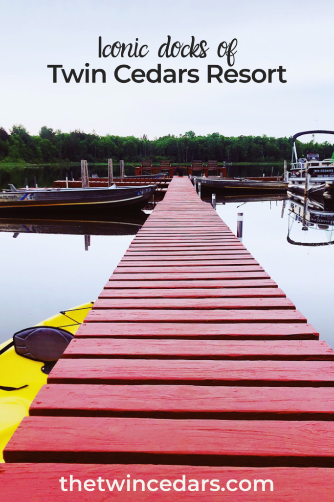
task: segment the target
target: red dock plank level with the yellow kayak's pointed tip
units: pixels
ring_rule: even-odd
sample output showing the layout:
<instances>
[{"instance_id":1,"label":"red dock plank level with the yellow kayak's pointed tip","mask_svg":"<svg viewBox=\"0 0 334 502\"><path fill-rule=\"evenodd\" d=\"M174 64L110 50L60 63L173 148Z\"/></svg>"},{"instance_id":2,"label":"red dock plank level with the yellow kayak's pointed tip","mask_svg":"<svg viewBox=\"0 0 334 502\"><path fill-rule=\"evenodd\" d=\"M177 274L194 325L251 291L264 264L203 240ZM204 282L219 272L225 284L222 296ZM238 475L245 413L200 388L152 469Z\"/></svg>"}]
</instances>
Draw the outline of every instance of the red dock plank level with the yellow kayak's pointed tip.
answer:
<instances>
[{"instance_id":1,"label":"red dock plank level with the yellow kayak's pointed tip","mask_svg":"<svg viewBox=\"0 0 334 502\"><path fill-rule=\"evenodd\" d=\"M100 298L93 309L263 310L295 309L295 306L288 298Z\"/></svg>"}]
</instances>

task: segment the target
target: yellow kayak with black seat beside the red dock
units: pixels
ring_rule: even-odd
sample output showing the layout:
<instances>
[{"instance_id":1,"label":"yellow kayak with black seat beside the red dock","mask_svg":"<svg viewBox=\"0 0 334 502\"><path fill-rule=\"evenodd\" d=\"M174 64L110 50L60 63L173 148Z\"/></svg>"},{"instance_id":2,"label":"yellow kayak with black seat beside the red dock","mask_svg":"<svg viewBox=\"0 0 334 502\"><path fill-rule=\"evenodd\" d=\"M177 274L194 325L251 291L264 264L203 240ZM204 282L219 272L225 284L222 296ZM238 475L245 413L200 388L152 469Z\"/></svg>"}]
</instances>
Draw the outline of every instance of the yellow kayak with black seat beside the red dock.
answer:
<instances>
[{"instance_id":1,"label":"yellow kayak with black seat beside the red dock","mask_svg":"<svg viewBox=\"0 0 334 502\"><path fill-rule=\"evenodd\" d=\"M79 305L49 317L36 326L57 328L54 331L63 333L69 340L71 336L68 333L74 335L77 332L92 306L93 302ZM30 330L33 331L33 328ZM38 391L47 383L48 364L50 368L54 364L50 361L45 362L43 359L41 338L37 339L37 344L35 343L36 354L29 353L28 344L25 342L28 340L28 331L23 330L23 332L14 335L15 346L13 340L0 344L0 462L4 461L3 451L6 444L21 420L29 415L30 405ZM36 331L38 330L35 329ZM21 333L24 333L24 336ZM38 334L43 335L43 333L42 328ZM18 352L21 352L22 355ZM45 359L48 361L47 357Z\"/></svg>"}]
</instances>

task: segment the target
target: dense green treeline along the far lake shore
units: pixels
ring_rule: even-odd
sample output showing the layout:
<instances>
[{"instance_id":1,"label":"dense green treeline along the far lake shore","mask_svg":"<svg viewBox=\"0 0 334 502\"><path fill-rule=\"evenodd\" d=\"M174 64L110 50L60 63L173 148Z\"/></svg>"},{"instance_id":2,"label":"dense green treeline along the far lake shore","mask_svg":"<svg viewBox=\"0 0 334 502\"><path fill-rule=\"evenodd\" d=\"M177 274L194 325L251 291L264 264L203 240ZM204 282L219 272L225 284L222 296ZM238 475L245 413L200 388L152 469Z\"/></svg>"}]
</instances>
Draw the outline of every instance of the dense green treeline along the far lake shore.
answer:
<instances>
[{"instance_id":1,"label":"dense green treeline along the far lake shore","mask_svg":"<svg viewBox=\"0 0 334 502\"><path fill-rule=\"evenodd\" d=\"M54 162L106 162L108 158L140 162L169 159L174 163L189 163L201 159L219 162L275 162L290 159L292 138L267 136L225 137L219 133L196 136L189 131L180 136L163 136L149 140L134 136L98 136L82 131L62 133L42 127L38 136L31 136L25 127L13 126L10 132L0 128L0 162L43 164ZM320 158L331 157L329 143L299 144L299 154L311 149Z\"/></svg>"}]
</instances>

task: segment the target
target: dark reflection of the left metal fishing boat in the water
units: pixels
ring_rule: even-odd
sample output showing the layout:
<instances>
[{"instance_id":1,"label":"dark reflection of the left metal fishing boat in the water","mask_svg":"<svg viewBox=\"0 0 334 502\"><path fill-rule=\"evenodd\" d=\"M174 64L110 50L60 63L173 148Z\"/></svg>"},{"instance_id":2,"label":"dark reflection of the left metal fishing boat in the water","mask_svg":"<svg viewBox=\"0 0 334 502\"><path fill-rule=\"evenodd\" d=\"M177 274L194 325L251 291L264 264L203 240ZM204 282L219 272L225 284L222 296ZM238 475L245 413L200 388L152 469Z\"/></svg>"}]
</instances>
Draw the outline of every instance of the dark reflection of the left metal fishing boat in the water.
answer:
<instances>
[{"instance_id":1,"label":"dark reflection of the left metal fishing boat in the water","mask_svg":"<svg viewBox=\"0 0 334 502\"><path fill-rule=\"evenodd\" d=\"M13 232L13 237L18 237L20 233L84 235L85 248L88 250L91 235L135 235L148 218L148 213L139 210L131 215L94 212L78 214L75 218L77 219L73 215L48 215L47 218L0 217L0 232Z\"/></svg>"}]
</instances>

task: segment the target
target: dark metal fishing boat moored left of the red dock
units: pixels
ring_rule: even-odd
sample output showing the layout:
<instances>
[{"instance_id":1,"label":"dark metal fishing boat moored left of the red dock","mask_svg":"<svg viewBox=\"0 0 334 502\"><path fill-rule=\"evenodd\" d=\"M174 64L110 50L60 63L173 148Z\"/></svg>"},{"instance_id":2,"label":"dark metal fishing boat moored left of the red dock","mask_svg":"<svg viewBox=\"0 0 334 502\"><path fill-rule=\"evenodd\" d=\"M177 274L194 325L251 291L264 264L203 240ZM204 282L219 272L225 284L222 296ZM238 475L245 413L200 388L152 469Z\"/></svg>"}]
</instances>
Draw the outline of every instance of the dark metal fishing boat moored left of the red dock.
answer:
<instances>
[{"instance_id":1,"label":"dark metal fishing boat moored left of the red dock","mask_svg":"<svg viewBox=\"0 0 334 502\"><path fill-rule=\"evenodd\" d=\"M156 185L98 188L21 188L0 192L0 210L22 208L142 208Z\"/></svg>"}]
</instances>

